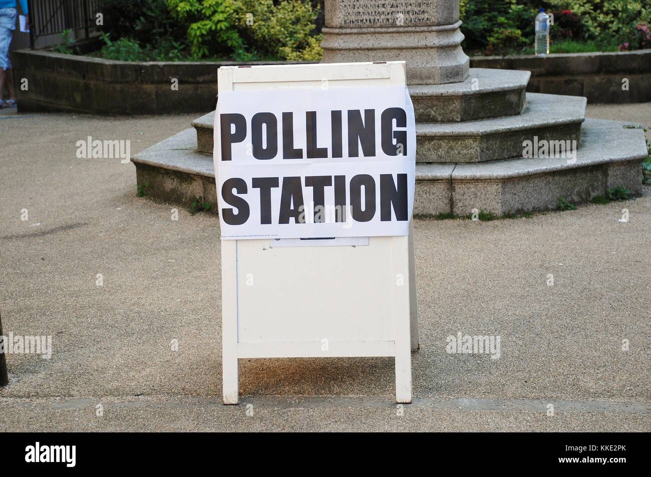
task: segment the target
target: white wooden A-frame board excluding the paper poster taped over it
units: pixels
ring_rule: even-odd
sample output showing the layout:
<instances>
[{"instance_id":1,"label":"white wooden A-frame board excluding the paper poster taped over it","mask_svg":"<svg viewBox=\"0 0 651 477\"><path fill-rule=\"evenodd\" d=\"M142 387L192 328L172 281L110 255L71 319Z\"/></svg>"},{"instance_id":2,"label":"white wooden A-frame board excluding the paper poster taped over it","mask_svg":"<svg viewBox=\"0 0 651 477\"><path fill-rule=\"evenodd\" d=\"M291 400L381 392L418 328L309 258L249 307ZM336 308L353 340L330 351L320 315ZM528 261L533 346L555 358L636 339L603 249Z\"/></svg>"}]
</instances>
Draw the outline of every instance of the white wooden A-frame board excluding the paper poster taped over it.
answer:
<instances>
[{"instance_id":1,"label":"white wooden A-frame board excluding the paper poster taped over it","mask_svg":"<svg viewBox=\"0 0 651 477\"><path fill-rule=\"evenodd\" d=\"M218 85L219 93L324 85L335 93L406 85L406 66L222 66ZM396 401L411 402L411 349L418 347L413 226L406 236L364 239L221 241L225 404L238 403L238 358L335 356L394 356Z\"/></svg>"}]
</instances>

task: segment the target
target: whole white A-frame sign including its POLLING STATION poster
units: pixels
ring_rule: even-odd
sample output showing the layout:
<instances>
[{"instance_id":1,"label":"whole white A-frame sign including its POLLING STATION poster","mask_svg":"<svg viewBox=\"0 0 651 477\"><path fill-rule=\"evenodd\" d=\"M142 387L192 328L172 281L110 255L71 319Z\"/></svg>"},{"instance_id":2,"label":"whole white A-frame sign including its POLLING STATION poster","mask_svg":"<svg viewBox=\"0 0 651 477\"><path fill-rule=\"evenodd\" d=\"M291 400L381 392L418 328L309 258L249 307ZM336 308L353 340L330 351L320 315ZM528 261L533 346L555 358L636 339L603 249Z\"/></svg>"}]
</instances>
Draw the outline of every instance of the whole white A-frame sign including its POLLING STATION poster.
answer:
<instances>
[{"instance_id":1,"label":"whole white A-frame sign including its POLLING STATION poster","mask_svg":"<svg viewBox=\"0 0 651 477\"><path fill-rule=\"evenodd\" d=\"M403 61L219 68L224 403L238 358L395 356L418 347L415 121Z\"/></svg>"}]
</instances>

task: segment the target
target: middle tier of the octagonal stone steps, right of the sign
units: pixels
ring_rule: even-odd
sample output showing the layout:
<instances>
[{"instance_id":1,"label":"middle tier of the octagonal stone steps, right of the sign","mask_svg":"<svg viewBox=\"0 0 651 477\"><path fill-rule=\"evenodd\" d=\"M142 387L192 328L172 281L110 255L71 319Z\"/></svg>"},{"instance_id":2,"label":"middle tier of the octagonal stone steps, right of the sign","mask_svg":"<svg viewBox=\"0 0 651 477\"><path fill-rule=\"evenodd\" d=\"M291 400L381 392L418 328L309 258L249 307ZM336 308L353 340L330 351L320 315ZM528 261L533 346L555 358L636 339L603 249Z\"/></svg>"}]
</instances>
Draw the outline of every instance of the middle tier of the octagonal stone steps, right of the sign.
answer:
<instances>
[{"instance_id":1,"label":"middle tier of the octagonal stone steps, right of the sign","mask_svg":"<svg viewBox=\"0 0 651 477\"><path fill-rule=\"evenodd\" d=\"M416 162L485 162L520 157L523 141L578 141L581 96L527 93L522 113L461 123L416 123Z\"/></svg>"}]
</instances>

